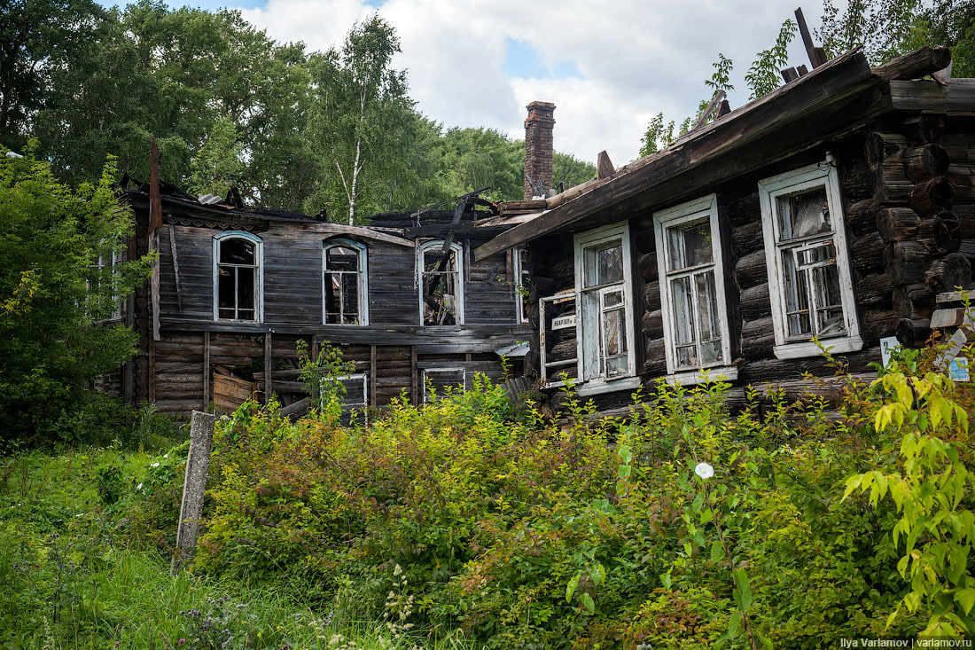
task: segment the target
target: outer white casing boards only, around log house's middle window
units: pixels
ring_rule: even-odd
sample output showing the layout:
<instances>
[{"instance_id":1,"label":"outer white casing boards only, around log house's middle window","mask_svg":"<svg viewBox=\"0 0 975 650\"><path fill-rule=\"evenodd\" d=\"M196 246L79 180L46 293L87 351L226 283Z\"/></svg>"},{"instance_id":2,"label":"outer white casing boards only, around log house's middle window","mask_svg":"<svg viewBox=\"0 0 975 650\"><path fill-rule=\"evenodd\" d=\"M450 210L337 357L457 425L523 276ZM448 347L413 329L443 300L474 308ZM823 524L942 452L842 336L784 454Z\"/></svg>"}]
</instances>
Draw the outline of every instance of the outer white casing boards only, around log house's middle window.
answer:
<instances>
[{"instance_id":1,"label":"outer white casing boards only, around log house's middle window","mask_svg":"<svg viewBox=\"0 0 975 650\"><path fill-rule=\"evenodd\" d=\"M722 358L711 366L698 365L696 368L678 368L677 337L675 329L674 298L670 292L670 247L667 245L667 230L674 226L698 221L707 217L711 228L710 269L715 278L715 295L718 303L719 320L721 322ZM709 194L693 201L663 210L653 214L653 234L656 242L657 271L660 278L660 305L663 311L664 352L667 361L668 375L680 378L682 384L693 384L694 377L700 377L702 370L721 368L731 364L731 327L730 311L727 303L727 289L724 284L727 265L724 259L725 247L722 238L722 224L718 215L718 195ZM705 270L702 266L700 270ZM700 345L700 342L698 342ZM686 380L686 381L685 381Z\"/></svg>"}]
</instances>

